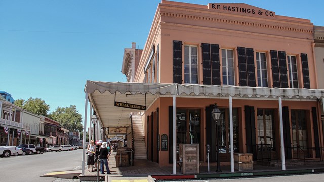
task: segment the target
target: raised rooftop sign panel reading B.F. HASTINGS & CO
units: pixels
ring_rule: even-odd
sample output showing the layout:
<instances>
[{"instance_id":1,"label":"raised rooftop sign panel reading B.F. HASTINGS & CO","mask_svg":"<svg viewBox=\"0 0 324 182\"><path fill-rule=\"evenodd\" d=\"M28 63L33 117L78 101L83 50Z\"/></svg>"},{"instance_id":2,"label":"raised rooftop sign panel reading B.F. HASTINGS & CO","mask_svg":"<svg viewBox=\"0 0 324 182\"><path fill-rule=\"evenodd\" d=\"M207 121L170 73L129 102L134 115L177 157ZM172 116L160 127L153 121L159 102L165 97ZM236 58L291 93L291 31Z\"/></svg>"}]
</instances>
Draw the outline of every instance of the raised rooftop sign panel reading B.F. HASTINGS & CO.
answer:
<instances>
[{"instance_id":1,"label":"raised rooftop sign panel reading B.F. HASTINGS & CO","mask_svg":"<svg viewBox=\"0 0 324 182\"><path fill-rule=\"evenodd\" d=\"M263 17L275 17L275 12L254 7L254 6L245 5L245 4L209 3L208 9L212 9L217 12L223 12L223 13L232 12L232 13L240 13L240 14L247 14L247 15L263 16Z\"/></svg>"}]
</instances>

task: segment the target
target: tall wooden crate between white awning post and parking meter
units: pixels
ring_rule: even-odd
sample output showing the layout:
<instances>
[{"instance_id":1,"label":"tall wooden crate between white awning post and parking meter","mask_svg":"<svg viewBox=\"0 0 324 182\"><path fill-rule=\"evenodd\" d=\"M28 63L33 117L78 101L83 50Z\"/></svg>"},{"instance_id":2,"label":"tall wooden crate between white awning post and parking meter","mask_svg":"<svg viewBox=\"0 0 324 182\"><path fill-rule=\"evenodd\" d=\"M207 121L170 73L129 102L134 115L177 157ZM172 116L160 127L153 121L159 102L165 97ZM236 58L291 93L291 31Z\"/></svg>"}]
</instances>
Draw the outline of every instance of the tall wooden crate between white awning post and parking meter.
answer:
<instances>
[{"instance_id":1,"label":"tall wooden crate between white awning post and parking meter","mask_svg":"<svg viewBox=\"0 0 324 182\"><path fill-rule=\"evenodd\" d=\"M199 144L180 144L179 157L183 174L199 174Z\"/></svg>"}]
</instances>

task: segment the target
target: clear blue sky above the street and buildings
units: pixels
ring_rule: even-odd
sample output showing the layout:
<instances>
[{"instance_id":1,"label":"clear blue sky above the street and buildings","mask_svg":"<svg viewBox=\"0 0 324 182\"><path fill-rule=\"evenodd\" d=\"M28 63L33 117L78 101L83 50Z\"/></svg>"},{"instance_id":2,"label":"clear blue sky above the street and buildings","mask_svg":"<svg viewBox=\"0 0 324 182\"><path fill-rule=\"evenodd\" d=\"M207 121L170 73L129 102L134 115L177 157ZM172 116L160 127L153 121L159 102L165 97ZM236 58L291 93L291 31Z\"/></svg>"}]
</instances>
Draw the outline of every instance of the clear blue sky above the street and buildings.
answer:
<instances>
[{"instance_id":1,"label":"clear blue sky above the street and buildings","mask_svg":"<svg viewBox=\"0 0 324 182\"><path fill-rule=\"evenodd\" d=\"M41 98L50 112L76 105L84 116L86 80L126 81L124 48L143 49L160 2L0 0L0 90ZM246 3L324 26L323 0L180 2Z\"/></svg>"}]
</instances>

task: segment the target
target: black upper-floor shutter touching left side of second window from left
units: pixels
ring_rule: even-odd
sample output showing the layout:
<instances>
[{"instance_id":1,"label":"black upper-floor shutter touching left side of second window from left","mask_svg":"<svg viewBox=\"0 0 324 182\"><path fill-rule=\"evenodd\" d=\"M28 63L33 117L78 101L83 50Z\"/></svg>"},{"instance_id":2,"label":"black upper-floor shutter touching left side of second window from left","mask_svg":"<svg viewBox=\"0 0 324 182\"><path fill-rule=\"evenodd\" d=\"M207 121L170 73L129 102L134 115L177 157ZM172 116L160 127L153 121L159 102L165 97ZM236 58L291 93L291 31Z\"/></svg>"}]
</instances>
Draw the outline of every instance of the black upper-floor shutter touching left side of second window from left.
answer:
<instances>
[{"instance_id":1,"label":"black upper-floor shutter touching left side of second window from left","mask_svg":"<svg viewBox=\"0 0 324 182\"><path fill-rule=\"evenodd\" d=\"M211 44L212 84L221 85L219 45Z\"/></svg>"}]
</instances>

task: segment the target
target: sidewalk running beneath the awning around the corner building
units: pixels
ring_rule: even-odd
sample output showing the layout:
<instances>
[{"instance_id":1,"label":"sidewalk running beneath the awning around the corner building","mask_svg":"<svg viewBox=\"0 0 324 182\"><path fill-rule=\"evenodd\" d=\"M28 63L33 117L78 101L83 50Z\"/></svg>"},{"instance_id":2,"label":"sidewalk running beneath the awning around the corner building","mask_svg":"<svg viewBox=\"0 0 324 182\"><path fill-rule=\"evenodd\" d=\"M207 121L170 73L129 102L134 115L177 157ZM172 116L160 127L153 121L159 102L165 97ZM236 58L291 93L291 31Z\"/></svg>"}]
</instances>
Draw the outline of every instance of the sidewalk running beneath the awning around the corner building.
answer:
<instances>
[{"instance_id":1,"label":"sidewalk running beneath the awning around the corner building","mask_svg":"<svg viewBox=\"0 0 324 182\"><path fill-rule=\"evenodd\" d=\"M207 163L200 165L200 173L195 175L187 175L180 173L180 167L176 166L176 175L172 174L172 167L160 167L157 163L148 160L134 160L134 166L116 167L116 153L113 152L109 159L109 169L111 174L101 174L99 178L104 181L154 181L155 180L172 180L172 179L194 179L194 178L229 178L229 177L252 177L252 176L269 176L269 175L292 175L306 173L324 173L324 162L306 162L306 165L286 166L286 170L279 167L270 167L258 165L257 162L253 165L252 171L234 171L230 170L230 165L222 165L221 173L215 172L216 163L210 163L210 172L208 172ZM229 163L226 163L229 164ZM78 166L77 170L81 170ZM88 172L88 166L85 166L85 175L80 175L80 181L97 180L97 171ZM152 177L152 178L151 178Z\"/></svg>"}]
</instances>

